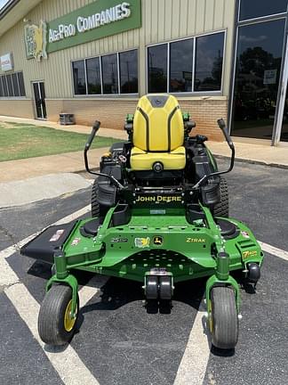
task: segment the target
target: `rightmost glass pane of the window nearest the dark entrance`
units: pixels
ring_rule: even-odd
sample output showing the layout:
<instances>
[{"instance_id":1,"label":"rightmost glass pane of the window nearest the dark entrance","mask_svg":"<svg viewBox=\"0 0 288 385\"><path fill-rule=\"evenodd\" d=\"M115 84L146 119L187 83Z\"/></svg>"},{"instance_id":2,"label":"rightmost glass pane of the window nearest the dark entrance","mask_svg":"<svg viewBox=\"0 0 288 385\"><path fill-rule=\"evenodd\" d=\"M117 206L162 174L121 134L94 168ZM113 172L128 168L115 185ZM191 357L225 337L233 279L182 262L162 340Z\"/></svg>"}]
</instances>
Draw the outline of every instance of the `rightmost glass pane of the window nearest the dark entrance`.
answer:
<instances>
[{"instance_id":1,"label":"rightmost glass pane of the window nearest the dark entrance","mask_svg":"<svg viewBox=\"0 0 288 385\"><path fill-rule=\"evenodd\" d=\"M196 38L195 91L220 91L224 32Z\"/></svg>"}]
</instances>

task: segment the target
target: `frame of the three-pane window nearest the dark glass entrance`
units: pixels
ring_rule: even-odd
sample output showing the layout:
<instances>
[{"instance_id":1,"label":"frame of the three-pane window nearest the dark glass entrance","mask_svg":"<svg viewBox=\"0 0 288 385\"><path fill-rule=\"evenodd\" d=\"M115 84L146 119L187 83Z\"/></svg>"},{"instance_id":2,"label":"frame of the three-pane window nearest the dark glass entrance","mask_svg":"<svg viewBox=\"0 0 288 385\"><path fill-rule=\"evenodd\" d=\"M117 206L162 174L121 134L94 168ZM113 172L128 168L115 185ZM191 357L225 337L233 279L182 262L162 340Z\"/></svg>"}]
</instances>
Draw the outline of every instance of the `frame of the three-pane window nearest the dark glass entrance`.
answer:
<instances>
[{"instance_id":1,"label":"frame of the three-pane window nearest the dark glass entrance","mask_svg":"<svg viewBox=\"0 0 288 385\"><path fill-rule=\"evenodd\" d=\"M221 72L221 86L220 90L216 91L195 91L195 70L196 70L196 38L197 37L205 37L205 36L211 36L219 33L224 33L224 39L223 39L223 61L222 61L222 72ZM170 44L175 42L180 42L183 40L189 40L193 39L193 62L192 62L192 91L181 91L181 92L169 92L169 84L170 84ZM182 37L177 39L170 39L165 40L161 43L155 43L152 45L146 45L145 47L145 72L146 72L146 81L145 81L145 89L146 93L148 94L148 48L151 46L156 45L164 45L167 44L167 86L166 86L166 93L174 94L178 96L201 96L201 95L222 95L223 94L223 86L224 86L224 75L225 75L225 58L226 58L226 41L227 41L227 29L219 29L212 32L205 32L202 34L197 34L189 37Z\"/></svg>"}]
</instances>

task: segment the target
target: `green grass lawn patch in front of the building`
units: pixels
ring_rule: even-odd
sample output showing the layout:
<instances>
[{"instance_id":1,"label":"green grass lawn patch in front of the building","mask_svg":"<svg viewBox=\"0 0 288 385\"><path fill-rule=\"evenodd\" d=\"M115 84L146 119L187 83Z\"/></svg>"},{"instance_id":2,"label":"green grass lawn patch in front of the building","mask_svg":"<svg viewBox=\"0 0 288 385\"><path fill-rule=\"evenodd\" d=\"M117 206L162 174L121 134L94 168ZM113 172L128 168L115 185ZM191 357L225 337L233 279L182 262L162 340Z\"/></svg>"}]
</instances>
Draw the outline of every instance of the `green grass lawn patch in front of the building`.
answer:
<instances>
[{"instance_id":1,"label":"green grass lawn patch in front of the building","mask_svg":"<svg viewBox=\"0 0 288 385\"><path fill-rule=\"evenodd\" d=\"M0 161L83 151L87 138L85 134L50 127L0 121ZM92 148L108 147L116 142L121 141L96 136Z\"/></svg>"}]
</instances>

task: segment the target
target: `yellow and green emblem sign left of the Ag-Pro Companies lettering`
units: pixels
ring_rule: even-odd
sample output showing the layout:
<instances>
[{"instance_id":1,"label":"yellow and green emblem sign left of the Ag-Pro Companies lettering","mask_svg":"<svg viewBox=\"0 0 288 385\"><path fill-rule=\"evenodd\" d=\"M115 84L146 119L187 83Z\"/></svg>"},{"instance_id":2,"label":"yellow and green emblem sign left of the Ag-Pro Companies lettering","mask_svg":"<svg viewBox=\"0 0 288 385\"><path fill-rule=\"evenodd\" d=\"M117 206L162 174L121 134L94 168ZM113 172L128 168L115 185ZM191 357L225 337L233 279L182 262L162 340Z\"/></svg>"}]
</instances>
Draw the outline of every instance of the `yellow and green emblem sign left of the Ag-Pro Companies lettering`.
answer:
<instances>
[{"instance_id":1,"label":"yellow and green emblem sign left of the Ag-Pro Companies lettering","mask_svg":"<svg viewBox=\"0 0 288 385\"><path fill-rule=\"evenodd\" d=\"M25 45L28 59L47 59L46 53L46 23L41 20L39 26L28 24L25 26Z\"/></svg>"}]
</instances>

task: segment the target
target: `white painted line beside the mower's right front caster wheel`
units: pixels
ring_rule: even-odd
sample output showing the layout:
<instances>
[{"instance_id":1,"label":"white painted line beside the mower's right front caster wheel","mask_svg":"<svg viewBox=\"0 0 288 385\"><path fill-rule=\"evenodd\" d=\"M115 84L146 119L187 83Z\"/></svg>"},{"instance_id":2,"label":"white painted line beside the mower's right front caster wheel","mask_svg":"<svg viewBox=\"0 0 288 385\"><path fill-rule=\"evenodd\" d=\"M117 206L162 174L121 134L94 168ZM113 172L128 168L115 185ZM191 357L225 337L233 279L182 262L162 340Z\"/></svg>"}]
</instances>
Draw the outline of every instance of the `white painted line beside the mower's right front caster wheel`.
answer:
<instances>
[{"instance_id":1,"label":"white painted line beside the mower's right front caster wheel","mask_svg":"<svg viewBox=\"0 0 288 385\"><path fill-rule=\"evenodd\" d=\"M204 381L211 348L210 340L204 332L204 311L202 299L174 385L201 385Z\"/></svg>"}]
</instances>

